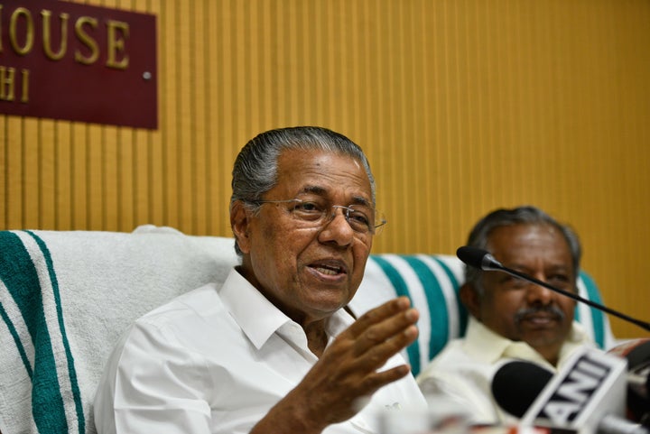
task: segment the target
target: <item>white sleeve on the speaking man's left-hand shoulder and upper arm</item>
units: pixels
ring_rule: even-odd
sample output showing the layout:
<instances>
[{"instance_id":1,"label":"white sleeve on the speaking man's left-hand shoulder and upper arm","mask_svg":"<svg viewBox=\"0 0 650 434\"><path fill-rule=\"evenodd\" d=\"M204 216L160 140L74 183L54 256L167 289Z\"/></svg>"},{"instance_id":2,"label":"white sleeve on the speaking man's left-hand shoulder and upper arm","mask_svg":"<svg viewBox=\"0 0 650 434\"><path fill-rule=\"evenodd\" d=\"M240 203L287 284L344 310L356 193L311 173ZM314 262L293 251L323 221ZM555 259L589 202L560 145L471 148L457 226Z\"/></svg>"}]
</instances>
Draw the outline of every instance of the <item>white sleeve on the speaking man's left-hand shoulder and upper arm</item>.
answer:
<instances>
[{"instance_id":1,"label":"white sleeve on the speaking man's left-hand shoulder and upper arm","mask_svg":"<svg viewBox=\"0 0 650 434\"><path fill-rule=\"evenodd\" d=\"M98 433L209 434L211 388L202 356L164 328L136 323L99 383Z\"/></svg>"}]
</instances>

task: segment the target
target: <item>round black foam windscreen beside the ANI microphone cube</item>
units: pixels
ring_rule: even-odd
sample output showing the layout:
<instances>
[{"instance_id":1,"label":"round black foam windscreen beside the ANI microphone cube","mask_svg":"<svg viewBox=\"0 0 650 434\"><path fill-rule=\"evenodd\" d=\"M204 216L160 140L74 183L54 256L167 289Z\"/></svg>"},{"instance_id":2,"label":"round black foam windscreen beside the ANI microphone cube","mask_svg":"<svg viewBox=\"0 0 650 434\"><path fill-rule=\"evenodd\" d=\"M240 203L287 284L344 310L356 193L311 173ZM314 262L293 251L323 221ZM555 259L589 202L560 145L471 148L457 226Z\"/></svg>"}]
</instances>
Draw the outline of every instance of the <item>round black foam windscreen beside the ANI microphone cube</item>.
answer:
<instances>
[{"instance_id":1,"label":"round black foam windscreen beside the ANI microphone cube","mask_svg":"<svg viewBox=\"0 0 650 434\"><path fill-rule=\"evenodd\" d=\"M522 418L546 384L552 372L530 362L502 365L492 378L492 395L504 411Z\"/></svg>"}]
</instances>

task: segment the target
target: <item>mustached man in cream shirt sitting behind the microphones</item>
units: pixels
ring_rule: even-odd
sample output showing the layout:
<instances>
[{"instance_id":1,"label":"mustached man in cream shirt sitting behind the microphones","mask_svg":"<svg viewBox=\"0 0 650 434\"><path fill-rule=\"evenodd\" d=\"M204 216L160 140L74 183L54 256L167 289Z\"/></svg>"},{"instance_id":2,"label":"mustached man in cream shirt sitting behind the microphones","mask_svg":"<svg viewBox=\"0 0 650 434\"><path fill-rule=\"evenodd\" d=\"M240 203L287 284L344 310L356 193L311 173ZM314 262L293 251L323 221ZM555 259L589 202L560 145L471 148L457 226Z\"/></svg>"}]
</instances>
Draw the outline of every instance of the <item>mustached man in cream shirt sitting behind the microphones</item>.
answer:
<instances>
[{"instance_id":1,"label":"mustached man in cream shirt sitting behind the microphones","mask_svg":"<svg viewBox=\"0 0 650 434\"><path fill-rule=\"evenodd\" d=\"M504 266L565 291L578 291L580 241L539 208L497 209L480 219L467 245ZM418 376L425 394L453 398L476 423L515 421L498 407L490 383L508 359L557 371L573 352L592 345L573 321L575 301L505 272L465 270L460 300L469 310L466 336L451 341Z\"/></svg>"}]
</instances>

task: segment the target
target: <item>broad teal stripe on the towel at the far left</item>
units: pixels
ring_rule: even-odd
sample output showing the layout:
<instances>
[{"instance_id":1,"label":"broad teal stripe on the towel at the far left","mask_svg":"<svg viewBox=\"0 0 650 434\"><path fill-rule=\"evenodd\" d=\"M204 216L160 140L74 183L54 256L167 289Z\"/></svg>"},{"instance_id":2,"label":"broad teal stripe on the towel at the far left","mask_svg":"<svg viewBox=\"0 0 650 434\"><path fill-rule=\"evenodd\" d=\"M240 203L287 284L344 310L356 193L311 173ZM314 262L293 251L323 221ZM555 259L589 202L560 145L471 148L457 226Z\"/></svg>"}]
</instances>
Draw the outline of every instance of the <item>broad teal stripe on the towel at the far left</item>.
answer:
<instances>
[{"instance_id":1,"label":"broad teal stripe on the towel at the far left","mask_svg":"<svg viewBox=\"0 0 650 434\"><path fill-rule=\"evenodd\" d=\"M23 316L32 337L32 414L39 432L68 432L63 398L52 352L50 332L45 321L41 284L32 258L18 235L0 234L0 279Z\"/></svg>"}]
</instances>

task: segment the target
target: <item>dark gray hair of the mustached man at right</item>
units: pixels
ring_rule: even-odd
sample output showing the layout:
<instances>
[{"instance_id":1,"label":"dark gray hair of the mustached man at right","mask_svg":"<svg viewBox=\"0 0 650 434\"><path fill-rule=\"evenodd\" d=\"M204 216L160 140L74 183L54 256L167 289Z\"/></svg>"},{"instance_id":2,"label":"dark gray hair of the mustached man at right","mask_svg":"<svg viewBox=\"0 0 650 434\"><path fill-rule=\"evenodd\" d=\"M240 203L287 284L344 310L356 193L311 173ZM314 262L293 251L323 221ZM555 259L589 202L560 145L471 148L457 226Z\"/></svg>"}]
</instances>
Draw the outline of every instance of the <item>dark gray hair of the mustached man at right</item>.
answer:
<instances>
[{"instance_id":1,"label":"dark gray hair of the mustached man at right","mask_svg":"<svg viewBox=\"0 0 650 434\"><path fill-rule=\"evenodd\" d=\"M557 228L562 236L564 236L567 245L569 245L573 271L575 272L575 276L578 277L578 273L580 272L580 256L582 255L578 235L570 226L562 225L553 217L543 212L540 208L523 206L512 209L499 208L490 212L486 217L481 218L476 226L471 230L467 245L470 247L487 249L489 235L493 230L497 229L497 227L521 224L549 225ZM480 282L480 276L480 270L469 266L465 267L465 282L468 282L479 291L479 293L482 293L483 287Z\"/></svg>"}]
</instances>

